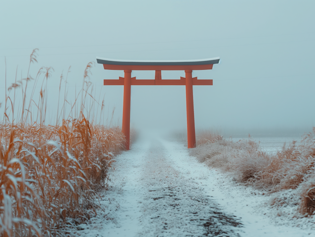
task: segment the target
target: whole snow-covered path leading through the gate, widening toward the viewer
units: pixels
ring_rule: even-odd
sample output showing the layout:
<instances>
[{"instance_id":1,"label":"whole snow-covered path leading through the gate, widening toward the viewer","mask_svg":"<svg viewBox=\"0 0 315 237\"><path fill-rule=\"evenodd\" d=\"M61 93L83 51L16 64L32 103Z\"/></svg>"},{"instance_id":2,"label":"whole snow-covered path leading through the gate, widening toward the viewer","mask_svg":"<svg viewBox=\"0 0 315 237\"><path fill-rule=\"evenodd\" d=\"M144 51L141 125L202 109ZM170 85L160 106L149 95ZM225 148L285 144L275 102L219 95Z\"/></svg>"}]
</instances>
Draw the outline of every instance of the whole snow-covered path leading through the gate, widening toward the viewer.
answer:
<instances>
[{"instance_id":1,"label":"whole snow-covered path leading through the gate, widening toward the viewer","mask_svg":"<svg viewBox=\"0 0 315 237\"><path fill-rule=\"evenodd\" d=\"M177 142L141 140L116 157L105 212L78 226L82 237L306 237L315 230L277 221L256 195L189 156ZM277 223L277 224L275 224Z\"/></svg>"}]
</instances>

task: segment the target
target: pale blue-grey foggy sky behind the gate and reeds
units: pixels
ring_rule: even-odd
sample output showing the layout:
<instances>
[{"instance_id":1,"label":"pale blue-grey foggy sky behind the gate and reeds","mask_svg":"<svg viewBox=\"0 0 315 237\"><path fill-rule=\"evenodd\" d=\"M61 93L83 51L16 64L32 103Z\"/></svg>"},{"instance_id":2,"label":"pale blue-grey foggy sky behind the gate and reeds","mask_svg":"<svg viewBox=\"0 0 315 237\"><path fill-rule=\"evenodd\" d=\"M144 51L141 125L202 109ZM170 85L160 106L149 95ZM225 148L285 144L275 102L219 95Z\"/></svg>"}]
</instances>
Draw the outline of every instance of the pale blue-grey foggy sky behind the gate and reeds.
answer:
<instances>
[{"instance_id":1,"label":"pale blue-grey foggy sky behind the gate and reeds","mask_svg":"<svg viewBox=\"0 0 315 237\"><path fill-rule=\"evenodd\" d=\"M54 68L48 84L50 117L61 73L71 66L67 86L73 102L87 63L95 61L95 95L105 95L105 118L115 108L116 125L122 120L123 86L103 86L103 79L118 79L124 72L104 70L96 56L220 57L212 70L193 71L193 77L213 79L213 86L193 88L196 129L219 129L226 136L308 132L315 126L314 9L312 0L1 1L0 112L5 59L8 86L17 65L18 79L26 77L34 48L39 51L32 77L41 66ZM154 75L132 71L137 79ZM162 79L181 76L184 71L162 71ZM132 86L131 126L185 131L185 97L184 86Z\"/></svg>"}]
</instances>

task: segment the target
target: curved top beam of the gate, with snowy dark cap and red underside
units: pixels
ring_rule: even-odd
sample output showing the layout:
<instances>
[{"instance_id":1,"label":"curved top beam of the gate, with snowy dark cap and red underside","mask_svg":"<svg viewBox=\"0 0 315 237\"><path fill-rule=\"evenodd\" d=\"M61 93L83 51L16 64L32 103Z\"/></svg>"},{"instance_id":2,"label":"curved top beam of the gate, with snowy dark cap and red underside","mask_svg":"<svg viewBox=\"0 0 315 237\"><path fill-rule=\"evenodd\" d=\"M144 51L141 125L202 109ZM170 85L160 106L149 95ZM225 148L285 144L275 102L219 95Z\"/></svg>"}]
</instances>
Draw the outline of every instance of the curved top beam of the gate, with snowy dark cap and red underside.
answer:
<instances>
[{"instance_id":1,"label":"curved top beam of the gate, with snowy dark cap and red underside","mask_svg":"<svg viewBox=\"0 0 315 237\"><path fill-rule=\"evenodd\" d=\"M209 70L220 58L196 60L120 60L96 57L108 70Z\"/></svg>"}]
</instances>

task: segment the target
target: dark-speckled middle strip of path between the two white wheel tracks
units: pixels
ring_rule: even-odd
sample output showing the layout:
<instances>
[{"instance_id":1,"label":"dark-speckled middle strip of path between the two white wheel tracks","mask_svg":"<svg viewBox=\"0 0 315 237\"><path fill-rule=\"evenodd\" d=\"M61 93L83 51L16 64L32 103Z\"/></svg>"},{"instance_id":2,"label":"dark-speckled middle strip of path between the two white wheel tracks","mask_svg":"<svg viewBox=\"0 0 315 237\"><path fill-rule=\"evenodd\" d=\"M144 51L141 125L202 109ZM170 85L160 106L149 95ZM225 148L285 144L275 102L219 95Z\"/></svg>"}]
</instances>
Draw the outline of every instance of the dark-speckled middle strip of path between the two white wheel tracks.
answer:
<instances>
[{"instance_id":1,"label":"dark-speckled middle strip of path between the two white wheel tracks","mask_svg":"<svg viewBox=\"0 0 315 237\"><path fill-rule=\"evenodd\" d=\"M203 188L172 166L166 154L154 141L144 157L140 217L144 226L139 236L240 236L240 220L224 214Z\"/></svg>"}]
</instances>

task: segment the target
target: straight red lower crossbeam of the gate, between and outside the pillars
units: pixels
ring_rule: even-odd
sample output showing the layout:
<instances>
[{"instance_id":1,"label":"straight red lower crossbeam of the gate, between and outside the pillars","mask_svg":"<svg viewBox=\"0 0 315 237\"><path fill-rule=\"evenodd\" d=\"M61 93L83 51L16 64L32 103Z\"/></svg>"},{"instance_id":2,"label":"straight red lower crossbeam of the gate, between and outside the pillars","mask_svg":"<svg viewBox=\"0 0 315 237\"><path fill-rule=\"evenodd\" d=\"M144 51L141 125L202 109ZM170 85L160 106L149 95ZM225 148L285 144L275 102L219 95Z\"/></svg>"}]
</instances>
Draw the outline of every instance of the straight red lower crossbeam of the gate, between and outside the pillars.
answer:
<instances>
[{"instance_id":1,"label":"straight red lower crossbeam of the gate, between and outside the pillars","mask_svg":"<svg viewBox=\"0 0 315 237\"><path fill-rule=\"evenodd\" d=\"M104 80L105 86L124 86L124 78L119 77L119 80ZM181 77L180 80L136 80L131 78L131 86L185 86L186 78ZM212 80L198 80L196 77L192 78L193 86L212 86Z\"/></svg>"}]
</instances>

